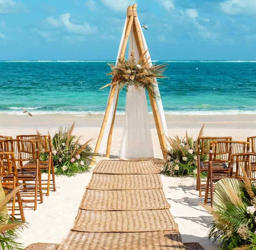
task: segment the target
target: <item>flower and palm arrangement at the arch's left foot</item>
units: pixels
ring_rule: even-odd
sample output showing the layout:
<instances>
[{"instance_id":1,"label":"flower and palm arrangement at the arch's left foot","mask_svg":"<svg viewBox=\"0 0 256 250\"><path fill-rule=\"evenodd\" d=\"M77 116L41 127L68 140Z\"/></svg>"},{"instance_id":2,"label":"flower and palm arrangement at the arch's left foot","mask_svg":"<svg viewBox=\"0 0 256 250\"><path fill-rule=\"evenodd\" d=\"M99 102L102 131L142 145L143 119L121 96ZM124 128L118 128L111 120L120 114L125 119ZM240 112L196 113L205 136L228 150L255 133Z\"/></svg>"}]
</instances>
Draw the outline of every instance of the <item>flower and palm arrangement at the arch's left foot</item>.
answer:
<instances>
[{"instance_id":1,"label":"flower and palm arrangement at the arch's left foot","mask_svg":"<svg viewBox=\"0 0 256 250\"><path fill-rule=\"evenodd\" d=\"M54 171L57 175L74 176L89 170L88 165L94 155L88 144L91 139L84 144L79 143L80 136L72 134L74 125L75 122L72 126L60 127L52 138Z\"/></svg>"}]
</instances>

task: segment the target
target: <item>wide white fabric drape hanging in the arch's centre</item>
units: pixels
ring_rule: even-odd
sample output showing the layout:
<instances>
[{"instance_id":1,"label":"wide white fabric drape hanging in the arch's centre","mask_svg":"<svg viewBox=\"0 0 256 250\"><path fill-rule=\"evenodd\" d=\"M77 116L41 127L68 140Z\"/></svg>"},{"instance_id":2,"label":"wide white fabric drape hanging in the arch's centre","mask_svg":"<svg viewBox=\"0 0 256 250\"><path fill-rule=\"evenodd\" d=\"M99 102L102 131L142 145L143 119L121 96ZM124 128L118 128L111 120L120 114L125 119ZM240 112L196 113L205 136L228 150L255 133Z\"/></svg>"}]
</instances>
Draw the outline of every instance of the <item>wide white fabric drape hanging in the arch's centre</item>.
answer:
<instances>
[{"instance_id":1,"label":"wide white fabric drape hanging in the arch's centre","mask_svg":"<svg viewBox=\"0 0 256 250\"><path fill-rule=\"evenodd\" d=\"M140 56L131 31L129 57L131 57L132 43L134 43L134 57L138 62ZM135 86L129 86L126 92L125 124L119 157L127 159L154 157L145 88L141 88L139 92Z\"/></svg>"}]
</instances>

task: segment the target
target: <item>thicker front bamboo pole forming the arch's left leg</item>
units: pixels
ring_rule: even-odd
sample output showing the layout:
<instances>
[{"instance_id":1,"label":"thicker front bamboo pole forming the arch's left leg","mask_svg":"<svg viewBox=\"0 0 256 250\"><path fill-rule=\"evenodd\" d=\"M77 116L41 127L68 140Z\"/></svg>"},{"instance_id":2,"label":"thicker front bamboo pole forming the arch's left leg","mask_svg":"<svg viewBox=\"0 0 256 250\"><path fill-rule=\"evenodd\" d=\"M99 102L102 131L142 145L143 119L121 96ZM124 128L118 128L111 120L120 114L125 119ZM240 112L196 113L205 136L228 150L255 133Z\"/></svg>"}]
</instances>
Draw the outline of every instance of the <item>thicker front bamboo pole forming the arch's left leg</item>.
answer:
<instances>
[{"instance_id":1,"label":"thicker front bamboo pole forming the arch's left leg","mask_svg":"<svg viewBox=\"0 0 256 250\"><path fill-rule=\"evenodd\" d=\"M132 8L132 6L129 6L129 8ZM133 21L134 21L134 16L130 16L128 24L127 24L126 29L125 29L124 39L123 39L122 48L121 48L121 52L120 52L120 56L119 56L120 59L124 58L125 49L126 49L126 45L127 45L127 42L128 42L129 34L131 32ZM116 85L112 86L112 88L110 90L110 95L109 95L109 98L108 98L105 115L104 115L103 122L102 122L102 125L101 125L101 128L100 128L99 137L98 137L95 149L94 149L94 153L98 153L98 151L99 151L100 143L102 141L102 137L103 137L103 134L104 134L104 131L105 131L105 128L106 128L106 123L107 123L107 119L108 119L108 116L109 116L110 108L111 108L111 105L112 105L112 102L113 102L113 97L114 97L115 90L116 90ZM91 160L91 165L95 165L95 160L96 160L96 156L93 156L92 160Z\"/></svg>"}]
</instances>

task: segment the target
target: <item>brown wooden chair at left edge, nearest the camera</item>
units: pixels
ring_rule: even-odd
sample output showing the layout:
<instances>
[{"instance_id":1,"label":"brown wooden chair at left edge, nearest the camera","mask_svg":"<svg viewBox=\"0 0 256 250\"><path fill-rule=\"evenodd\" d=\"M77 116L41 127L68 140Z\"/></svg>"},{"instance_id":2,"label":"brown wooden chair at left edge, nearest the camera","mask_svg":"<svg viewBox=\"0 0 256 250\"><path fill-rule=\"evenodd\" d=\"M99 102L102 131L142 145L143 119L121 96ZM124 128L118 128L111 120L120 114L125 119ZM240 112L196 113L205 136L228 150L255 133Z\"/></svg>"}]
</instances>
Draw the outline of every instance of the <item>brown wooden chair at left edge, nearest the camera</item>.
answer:
<instances>
[{"instance_id":1,"label":"brown wooden chair at left edge, nearest the camera","mask_svg":"<svg viewBox=\"0 0 256 250\"><path fill-rule=\"evenodd\" d=\"M17 186L20 185L18 180L18 171L17 171L13 152L0 152L0 167L1 167L1 172L0 172L1 184L3 186L5 193L8 194L12 192ZM9 175L11 174L13 178L10 179L9 181L2 181L3 177L5 177L5 175L7 174ZM17 196L20 213L16 213L16 211L18 210L17 209L18 207L16 207L16 196ZM12 200L12 206L11 207L9 206L8 208L9 210L11 208L13 218L15 217L15 215L21 215L21 219L25 221L25 215L23 211L23 203L22 203L20 191L18 191L14 195Z\"/></svg>"}]
</instances>

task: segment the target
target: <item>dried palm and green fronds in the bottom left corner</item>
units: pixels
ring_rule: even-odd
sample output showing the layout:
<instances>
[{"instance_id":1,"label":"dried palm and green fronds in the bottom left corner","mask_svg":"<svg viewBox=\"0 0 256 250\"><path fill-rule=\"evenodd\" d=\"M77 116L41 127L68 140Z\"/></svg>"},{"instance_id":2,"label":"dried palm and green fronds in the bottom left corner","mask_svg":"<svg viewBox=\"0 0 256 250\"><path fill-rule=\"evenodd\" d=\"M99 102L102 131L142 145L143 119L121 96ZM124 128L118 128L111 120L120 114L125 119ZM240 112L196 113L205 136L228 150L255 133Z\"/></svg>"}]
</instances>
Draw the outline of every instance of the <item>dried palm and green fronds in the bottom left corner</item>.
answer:
<instances>
[{"instance_id":1,"label":"dried palm and green fronds in the bottom left corner","mask_svg":"<svg viewBox=\"0 0 256 250\"><path fill-rule=\"evenodd\" d=\"M18 231L23 229L26 223L16 218L10 218L6 205L18 191L19 187L5 196L4 189L0 182L0 245L3 250L24 249L21 243L16 242L16 238L18 237Z\"/></svg>"}]
</instances>

